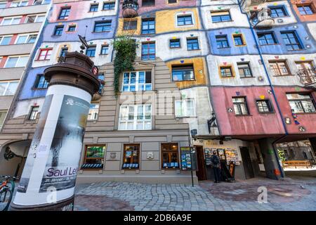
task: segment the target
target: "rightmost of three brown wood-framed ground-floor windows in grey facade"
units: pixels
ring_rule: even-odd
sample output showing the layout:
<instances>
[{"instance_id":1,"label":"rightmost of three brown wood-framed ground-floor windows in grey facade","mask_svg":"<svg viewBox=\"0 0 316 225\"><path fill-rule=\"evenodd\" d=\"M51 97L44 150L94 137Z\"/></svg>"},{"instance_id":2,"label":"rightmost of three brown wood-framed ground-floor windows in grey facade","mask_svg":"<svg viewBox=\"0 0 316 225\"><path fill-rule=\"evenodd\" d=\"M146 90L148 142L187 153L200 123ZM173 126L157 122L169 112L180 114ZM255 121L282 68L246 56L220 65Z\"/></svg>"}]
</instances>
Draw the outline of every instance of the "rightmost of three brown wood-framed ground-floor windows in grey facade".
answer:
<instances>
[{"instance_id":1,"label":"rightmost of three brown wood-framed ground-floor windows in grey facade","mask_svg":"<svg viewBox=\"0 0 316 225\"><path fill-rule=\"evenodd\" d=\"M162 143L162 169L178 169L178 143Z\"/></svg>"}]
</instances>

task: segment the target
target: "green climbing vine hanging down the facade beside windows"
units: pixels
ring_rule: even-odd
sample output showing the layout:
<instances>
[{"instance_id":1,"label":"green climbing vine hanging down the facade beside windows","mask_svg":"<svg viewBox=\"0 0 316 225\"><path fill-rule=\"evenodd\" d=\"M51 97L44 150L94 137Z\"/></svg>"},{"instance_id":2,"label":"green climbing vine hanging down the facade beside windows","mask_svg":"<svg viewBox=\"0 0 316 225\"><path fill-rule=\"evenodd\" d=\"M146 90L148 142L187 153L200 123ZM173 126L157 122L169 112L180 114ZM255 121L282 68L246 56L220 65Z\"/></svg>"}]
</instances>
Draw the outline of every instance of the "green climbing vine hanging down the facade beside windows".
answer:
<instances>
[{"instance_id":1,"label":"green climbing vine hanging down the facade beside windows","mask_svg":"<svg viewBox=\"0 0 316 225\"><path fill-rule=\"evenodd\" d=\"M114 58L114 92L119 93L119 76L124 71L132 71L138 43L131 36L120 36L112 42L115 51Z\"/></svg>"}]
</instances>

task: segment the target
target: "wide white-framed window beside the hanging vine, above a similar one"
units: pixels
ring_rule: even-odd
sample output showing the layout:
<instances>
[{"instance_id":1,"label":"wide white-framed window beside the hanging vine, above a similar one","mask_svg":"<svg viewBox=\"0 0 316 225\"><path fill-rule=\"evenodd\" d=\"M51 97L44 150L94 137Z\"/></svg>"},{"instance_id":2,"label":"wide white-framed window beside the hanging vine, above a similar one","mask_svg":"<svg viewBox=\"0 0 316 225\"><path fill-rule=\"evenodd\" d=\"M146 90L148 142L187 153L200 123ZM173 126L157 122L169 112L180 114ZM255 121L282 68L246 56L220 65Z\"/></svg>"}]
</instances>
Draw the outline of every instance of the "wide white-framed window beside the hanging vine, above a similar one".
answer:
<instances>
[{"instance_id":1,"label":"wide white-framed window beside the hanging vine, above a similar one","mask_svg":"<svg viewBox=\"0 0 316 225\"><path fill-rule=\"evenodd\" d=\"M122 91L150 91L152 89L152 72L124 72Z\"/></svg>"}]
</instances>

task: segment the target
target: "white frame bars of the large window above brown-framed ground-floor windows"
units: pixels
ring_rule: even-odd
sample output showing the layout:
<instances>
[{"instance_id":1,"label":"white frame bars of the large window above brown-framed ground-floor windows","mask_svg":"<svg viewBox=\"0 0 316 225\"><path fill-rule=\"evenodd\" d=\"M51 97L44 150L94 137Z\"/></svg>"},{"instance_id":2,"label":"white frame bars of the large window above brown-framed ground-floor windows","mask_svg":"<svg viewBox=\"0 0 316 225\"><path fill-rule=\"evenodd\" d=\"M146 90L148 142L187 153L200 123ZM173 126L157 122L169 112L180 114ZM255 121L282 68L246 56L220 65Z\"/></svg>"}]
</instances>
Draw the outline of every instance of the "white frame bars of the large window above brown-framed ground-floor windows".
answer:
<instances>
[{"instance_id":1,"label":"white frame bars of the large window above brown-framed ground-floor windows","mask_svg":"<svg viewBox=\"0 0 316 225\"><path fill-rule=\"evenodd\" d=\"M143 120L138 120L138 106L140 106L140 105L143 105ZM150 106L150 119L145 119L147 106ZM133 120L129 120L130 107L133 107ZM123 117L123 115L122 115L122 108L127 108L125 117ZM148 122L150 122L150 128L146 129L145 124ZM138 123L142 123L141 129L137 126ZM132 127L133 127L132 129L128 129L129 124L132 124ZM122 127L124 127L124 128L122 128ZM120 105L118 130L150 130L150 129L152 129L152 104Z\"/></svg>"}]
</instances>

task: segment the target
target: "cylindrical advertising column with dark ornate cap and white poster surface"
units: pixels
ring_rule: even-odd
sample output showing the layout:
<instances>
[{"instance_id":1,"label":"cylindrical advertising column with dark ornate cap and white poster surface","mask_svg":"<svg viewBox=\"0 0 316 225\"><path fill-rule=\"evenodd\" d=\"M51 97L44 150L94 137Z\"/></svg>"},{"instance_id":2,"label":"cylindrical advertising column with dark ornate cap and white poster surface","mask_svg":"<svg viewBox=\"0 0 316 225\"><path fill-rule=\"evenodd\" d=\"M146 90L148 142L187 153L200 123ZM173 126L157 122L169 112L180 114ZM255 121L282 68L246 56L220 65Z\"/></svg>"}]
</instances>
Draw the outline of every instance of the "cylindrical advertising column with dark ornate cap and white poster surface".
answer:
<instances>
[{"instance_id":1,"label":"cylindrical advertising column with dark ornate cap and white poster surface","mask_svg":"<svg viewBox=\"0 0 316 225\"><path fill-rule=\"evenodd\" d=\"M74 186L98 69L77 51L46 68L44 105L10 210L73 210Z\"/></svg>"}]
</instances>

